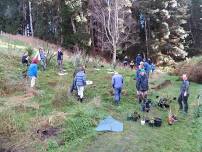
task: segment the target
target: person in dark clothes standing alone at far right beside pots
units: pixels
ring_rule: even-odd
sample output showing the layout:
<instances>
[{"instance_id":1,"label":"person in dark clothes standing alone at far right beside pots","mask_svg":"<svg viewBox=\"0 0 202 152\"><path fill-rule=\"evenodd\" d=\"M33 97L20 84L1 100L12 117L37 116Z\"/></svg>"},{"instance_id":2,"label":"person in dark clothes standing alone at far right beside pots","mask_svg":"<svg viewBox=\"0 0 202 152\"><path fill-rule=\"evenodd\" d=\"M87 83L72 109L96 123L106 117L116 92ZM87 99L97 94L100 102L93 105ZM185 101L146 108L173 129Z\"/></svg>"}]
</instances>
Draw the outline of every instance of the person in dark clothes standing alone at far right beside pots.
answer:
<instances>
[{"instance_id":1,"label":"person in dark clothes standing alone at far right beside pots","mask_svg":"<svg viewBox=\"0 0 202 152\"><path fill-rule=\"evenodd\" d=\"M178 97L179 110L188 112L188 98L189 98L189 81L186 74L182 75L182 85L180 87L180 95Z\"/></svg>"}]
</instances>

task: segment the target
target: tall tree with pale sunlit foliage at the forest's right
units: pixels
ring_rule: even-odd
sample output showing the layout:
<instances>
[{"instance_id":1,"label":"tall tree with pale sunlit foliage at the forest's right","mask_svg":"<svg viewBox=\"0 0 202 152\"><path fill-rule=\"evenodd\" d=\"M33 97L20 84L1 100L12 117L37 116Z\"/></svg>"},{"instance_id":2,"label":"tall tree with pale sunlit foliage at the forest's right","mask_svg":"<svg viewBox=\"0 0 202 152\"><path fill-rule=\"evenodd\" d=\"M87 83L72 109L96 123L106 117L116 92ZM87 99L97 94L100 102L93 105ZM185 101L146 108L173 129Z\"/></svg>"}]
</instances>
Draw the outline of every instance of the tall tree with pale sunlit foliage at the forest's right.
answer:
<instances>
[{"instance_id":1,"label":"tall tree with pale sunlit foliage at the forest's right","mask_svg":"<svg viewBox=\"0 0 202 152\"><path fill-rule=\"evenodd\" d=\"M137 18L142 14L148 23L149 55L185 59L189 47L186 41L189 0L139 0L138 3L134 5Z\"/></svg>"}]
</instances>

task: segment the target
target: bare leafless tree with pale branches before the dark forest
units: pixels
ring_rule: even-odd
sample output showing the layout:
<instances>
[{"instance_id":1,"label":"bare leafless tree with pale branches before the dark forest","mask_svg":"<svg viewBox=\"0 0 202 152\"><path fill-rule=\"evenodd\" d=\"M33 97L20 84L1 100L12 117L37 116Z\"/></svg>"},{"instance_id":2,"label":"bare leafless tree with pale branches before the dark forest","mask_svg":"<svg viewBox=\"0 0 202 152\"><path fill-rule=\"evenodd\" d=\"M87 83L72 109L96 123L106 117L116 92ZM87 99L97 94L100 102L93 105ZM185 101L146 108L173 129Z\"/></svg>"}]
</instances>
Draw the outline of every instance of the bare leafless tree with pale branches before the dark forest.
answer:
<instances>
[{"instance_id":1,"label":"bare leafless tree with pale branches before the dark forest","mask_svg":"<svg viewBox=\"0 0 202 152\"><path fill-rule=\"evenodd\" d=\"M131 6L129 0L90 0L89 2L91 19L100 25L99 32L104 37L103 46L104 49L112 52L113 65L116 65L117 51L124 45L127 48L135 43L130 41L133 34ZM125 22L127 19L130 22Z\"/></svg>"}]
</instances>

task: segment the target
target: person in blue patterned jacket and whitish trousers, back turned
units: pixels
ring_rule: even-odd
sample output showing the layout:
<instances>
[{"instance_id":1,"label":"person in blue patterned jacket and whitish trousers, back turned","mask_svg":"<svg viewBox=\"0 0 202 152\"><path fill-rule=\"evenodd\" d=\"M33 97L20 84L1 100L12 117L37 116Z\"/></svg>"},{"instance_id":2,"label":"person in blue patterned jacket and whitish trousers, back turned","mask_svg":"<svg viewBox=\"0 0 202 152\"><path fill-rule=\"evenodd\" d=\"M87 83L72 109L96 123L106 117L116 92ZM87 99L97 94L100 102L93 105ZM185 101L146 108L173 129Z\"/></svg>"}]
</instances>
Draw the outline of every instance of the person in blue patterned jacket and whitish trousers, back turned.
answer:
<instances>
[{"instance_id":1,"label":"person in blue patterned jacket and whitish trousers, back turned","mask_svg":"<svg viewBox=\"0 0 202 152\"><path fill-rule=\"evenodd\" d=\"M84 87L86 86L86 74L83 68L80 68L79 72L76 74L74 78L75 86L77 87L77 93L79 96L80 102L83 102L83 92Z\"/></svg>"}]
</instances>

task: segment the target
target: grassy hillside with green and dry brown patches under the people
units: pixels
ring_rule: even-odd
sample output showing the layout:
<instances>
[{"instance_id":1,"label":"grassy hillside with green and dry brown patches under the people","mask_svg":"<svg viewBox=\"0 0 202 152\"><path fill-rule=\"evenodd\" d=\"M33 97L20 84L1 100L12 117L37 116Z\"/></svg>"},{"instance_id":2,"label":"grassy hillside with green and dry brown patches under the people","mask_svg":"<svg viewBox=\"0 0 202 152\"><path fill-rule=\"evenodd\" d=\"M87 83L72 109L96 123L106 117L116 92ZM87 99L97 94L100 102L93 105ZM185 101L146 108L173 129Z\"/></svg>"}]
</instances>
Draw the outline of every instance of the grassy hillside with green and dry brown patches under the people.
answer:
<instances>
[{"instance_id":1,"label":"grassy hillside with green and dry brown patches under the people","mask_svg":"<svg viewBox=\"0 0 202 152\"><path fill-rule=\"evenodd\" d=\"M173 126L166 123L167 111L153 107L148 117L161 117L160 128L141 126L140 122L127 121L127 115L139 112L136 101L135 71L118 68L125 79L123 97L119 107L113 104L109 65L100 70L88 63L87 78L94 82L85 90L85 101L79 103L75 95L67 95L74 71L73 61L65 59L67 75L57 74L53 61L47 71L39 72L35 91L30 91L22 79L20 55L27 44L0 36L0 151L19 152L201 152L202 117L195 118L196 96L202 86L191 83L190 111L187 116L178 112L177 102L172 110L179 122ZM156 102L156 95L176 97L181 82L176 76L158 72L150 84L170 80L160 90L150 89L149 98ZM122 133L96 133L99 120L112 115L124 123ZM144 113L141 113L144 116ZM56 129L53 136L41 136L41 131ZM53 131L54 132L54 131Z\"/></svg>"}]
</instances>

